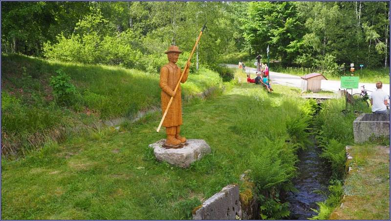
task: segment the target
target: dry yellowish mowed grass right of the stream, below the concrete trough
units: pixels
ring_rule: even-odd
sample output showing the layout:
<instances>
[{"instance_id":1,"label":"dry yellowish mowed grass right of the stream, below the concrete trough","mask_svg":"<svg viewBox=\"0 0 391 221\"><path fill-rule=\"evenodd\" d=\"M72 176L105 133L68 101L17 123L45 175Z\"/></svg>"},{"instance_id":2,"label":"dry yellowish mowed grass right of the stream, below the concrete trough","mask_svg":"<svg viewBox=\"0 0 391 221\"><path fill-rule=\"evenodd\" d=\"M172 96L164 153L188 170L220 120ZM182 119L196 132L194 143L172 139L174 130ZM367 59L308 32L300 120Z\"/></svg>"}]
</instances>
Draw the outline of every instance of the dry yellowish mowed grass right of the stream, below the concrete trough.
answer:
<instances>
[{"instance_id":1,"label":"dry yellowish mowed grass right of the stream, below the concrete trough","mask_svg":"<svg viewBox=\"0 0 391 221\"><path fill-rule=\"evenodd\" d=\"M390 147L365 144L350 151L345 197L330 219L390 220Z\"/></svg>"}]
</instances>

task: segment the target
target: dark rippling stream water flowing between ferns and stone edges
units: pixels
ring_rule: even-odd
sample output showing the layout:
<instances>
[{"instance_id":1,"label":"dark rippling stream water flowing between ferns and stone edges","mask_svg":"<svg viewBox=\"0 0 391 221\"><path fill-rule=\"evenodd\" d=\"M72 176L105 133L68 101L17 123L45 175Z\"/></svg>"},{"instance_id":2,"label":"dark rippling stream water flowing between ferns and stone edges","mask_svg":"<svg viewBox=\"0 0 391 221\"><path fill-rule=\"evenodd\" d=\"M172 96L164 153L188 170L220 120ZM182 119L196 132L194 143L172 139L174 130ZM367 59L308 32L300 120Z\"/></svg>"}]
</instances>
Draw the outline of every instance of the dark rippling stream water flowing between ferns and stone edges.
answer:
<instances>
[{"instance_id":1,"label":"dark rippling stream water flowing between ferns and stone edges","mask_svg":"<svg viewBox=\"0 0 391 221\"><path fill-rule=\"evenodd\" d=\"M288 201L290 206L289 220L307 220L318 209L316 202L325 201L328 194L328 179L331 175L330 168L319 157L321 148L315 144L308 146L306 150L299 152L299 176L292 182L299 190L297 193L289 192L284 201ZM319 190L324 193L320 193Z\"/></svg>"}]
</instances>

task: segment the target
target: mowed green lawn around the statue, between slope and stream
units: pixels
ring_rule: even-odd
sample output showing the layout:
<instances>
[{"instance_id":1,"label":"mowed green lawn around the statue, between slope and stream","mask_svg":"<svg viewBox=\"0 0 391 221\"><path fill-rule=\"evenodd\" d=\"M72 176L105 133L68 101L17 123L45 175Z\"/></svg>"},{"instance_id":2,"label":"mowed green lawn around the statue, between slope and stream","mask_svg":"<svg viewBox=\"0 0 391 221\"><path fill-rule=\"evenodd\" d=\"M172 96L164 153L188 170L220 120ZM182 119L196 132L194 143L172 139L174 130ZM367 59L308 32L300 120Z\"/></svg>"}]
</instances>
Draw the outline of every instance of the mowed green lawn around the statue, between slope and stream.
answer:
<instances>
[{"instance_id":1,"label":"mowed green lawn around the statue, between slope and stream","mask_svg":"<svg viewBox=\"0 0 391 221\"><path fill-rule=\"evenodd\" d=\"M240 184L260 151L282 151L283 165L293 167L297 158L285 143L285 124L301 116L304 100L298 96L285 86L267 94L241 84L185 105L183 135L212 148L187 169L155 161L148 148L165 137L164 128L155 132L158 112L119 130L97 129L47 143L16 161L2 160L2 219L189 219L201 201Z\"/></svg>"}]
</instances>

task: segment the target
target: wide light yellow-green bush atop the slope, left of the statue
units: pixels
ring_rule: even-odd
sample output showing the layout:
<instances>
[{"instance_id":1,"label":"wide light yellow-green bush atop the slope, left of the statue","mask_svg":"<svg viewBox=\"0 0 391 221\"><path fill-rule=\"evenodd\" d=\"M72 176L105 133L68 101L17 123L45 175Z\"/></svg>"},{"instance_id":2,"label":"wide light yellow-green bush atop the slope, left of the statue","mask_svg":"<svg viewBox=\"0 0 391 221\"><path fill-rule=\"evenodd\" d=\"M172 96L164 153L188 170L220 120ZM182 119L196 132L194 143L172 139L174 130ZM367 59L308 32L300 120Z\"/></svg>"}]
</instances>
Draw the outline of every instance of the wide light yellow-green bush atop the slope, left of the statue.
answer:
<instances>
[{"instance_id":1,"label":"wide light yellow-green bush atop the slope, left of the statue","mask_svg":"<svg viewBox=\"0 0 391 221\"><path fill-rule=\"evenodd\" d=\"M60 35L57 43L44 43L43 52L46 58L53 60L102 63L145 70L142 53L132 46L134 35L131 30L115 37L100 37L96 32L72 35L70 38Z\"/></svg>"}]
</instances>

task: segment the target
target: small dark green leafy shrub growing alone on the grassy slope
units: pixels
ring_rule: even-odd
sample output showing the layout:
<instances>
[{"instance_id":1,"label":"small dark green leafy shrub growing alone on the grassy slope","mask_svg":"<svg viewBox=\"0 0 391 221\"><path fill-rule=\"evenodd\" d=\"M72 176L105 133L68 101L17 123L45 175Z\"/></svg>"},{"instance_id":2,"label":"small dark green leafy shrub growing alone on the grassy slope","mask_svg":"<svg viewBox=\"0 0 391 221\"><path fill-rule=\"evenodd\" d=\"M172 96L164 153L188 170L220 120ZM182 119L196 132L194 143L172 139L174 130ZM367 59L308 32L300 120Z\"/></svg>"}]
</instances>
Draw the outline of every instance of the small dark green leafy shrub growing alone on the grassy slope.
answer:
<instances>
[{"instance_id":1,"label":"small dark green leafy shrub growing alone on the grassy slope","mask_svg":"<svg viewBox=\"0 0 391 221\"><path fill-rule=\"evenodd\" d=\"M56 70L57 76L52 76L50 86L53 88L53 94L58 104L71 105L77 99L77 91L75 85L71 83L70 77L65 73L64 69Z\"/></svg>"}]
</instances>

